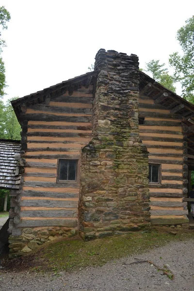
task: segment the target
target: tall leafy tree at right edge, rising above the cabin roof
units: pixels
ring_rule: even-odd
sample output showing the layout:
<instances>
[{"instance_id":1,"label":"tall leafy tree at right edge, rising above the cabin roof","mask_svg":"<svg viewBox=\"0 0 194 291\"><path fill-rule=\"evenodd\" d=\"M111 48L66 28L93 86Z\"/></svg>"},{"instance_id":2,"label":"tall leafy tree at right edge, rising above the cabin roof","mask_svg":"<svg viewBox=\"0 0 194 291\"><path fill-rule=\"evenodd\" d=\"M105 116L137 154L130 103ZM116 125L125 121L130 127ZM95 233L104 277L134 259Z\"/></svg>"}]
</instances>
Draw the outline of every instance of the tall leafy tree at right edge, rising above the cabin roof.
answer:
<instances>
[{"instance_id":1,"label":"tall leafy tree at right edge, rising above the cabin roof","mask_svg":"<svg viewBox=\"0 0 194 291\"><path fill-rule=\"evenodd\" d=\"M177 32L182 54L171 54L169 63L175 69L175 80L181 83L183 97L194 103L194 16L185 23Z\"/></svg>"}]
</instances>

